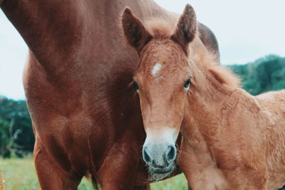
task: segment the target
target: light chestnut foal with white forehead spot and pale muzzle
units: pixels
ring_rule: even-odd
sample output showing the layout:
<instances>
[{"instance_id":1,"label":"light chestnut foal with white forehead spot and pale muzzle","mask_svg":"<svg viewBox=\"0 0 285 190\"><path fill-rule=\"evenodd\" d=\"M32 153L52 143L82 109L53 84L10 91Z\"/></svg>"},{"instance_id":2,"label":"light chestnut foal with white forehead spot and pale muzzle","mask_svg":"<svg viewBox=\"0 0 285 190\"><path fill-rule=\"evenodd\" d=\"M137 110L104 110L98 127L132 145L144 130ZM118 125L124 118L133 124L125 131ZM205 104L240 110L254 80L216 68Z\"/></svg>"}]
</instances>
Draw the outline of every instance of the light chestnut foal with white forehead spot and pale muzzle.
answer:
<instances>
[{"instance_id":1,"label":"light chestnut foal with white forehead spot and pale muzzle","mask_svg":"<svg viewBox=\"0 0 285 190\"><path fill-rule=\"evenodd\" d=\"M143 159L150 173L170 174L180 159L191 189L276 189L285 182L285 90L254 97L195 36L187 5L173 30L144 26L130 9L125 36L140 57L134 79L147 138Z\"/></svg>"}]
</instances>

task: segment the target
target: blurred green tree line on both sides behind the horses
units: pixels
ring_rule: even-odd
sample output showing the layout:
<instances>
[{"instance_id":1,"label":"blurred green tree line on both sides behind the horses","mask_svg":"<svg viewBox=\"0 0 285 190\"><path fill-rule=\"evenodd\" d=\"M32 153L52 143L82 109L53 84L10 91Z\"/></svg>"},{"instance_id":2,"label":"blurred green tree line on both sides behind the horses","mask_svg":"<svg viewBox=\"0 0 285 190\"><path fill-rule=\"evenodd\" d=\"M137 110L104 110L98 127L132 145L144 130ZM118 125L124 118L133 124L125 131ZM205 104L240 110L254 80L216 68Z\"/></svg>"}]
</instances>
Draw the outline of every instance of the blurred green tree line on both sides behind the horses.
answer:
<instances>
[{"instance_id":1,"label":"blurred green tree line on both sides behind the horses","mask_svg":"<svg viewBox=\"0 0 285 190\"><path fill-rule=\"evenodd\" d=\"M252 95L285 89L285 58L266 56L254 63L229 65ZM0 157L26 157L34 144L31 117L24 100L0 96Z\"/></svg>"}]
</instances>

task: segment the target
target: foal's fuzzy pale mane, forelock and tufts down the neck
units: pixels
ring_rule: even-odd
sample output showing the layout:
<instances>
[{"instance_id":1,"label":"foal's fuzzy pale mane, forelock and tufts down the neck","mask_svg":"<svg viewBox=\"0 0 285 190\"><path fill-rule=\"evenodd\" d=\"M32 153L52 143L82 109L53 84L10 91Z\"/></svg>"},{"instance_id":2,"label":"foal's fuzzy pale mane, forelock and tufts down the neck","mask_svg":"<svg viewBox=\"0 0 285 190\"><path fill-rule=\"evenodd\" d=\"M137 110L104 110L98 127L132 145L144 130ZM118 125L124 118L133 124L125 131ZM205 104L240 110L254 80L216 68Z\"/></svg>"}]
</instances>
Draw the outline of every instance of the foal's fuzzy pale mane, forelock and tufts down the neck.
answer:
<instances>
[{"instance_id":1,"label":"foal's fuzzy pale mane, forelock and tufts down the neck","mask_svg":"<svg viewBox=\"0 0 285 190\"><path fill-rule=\"evenodd\" d=\"M145 21L145 27L154 38L170 38L175 30L175 26L176 23L161 18ZM199 36L199 30L197 30L196 36ZM201 43L202 41L197 37L190 43L190 61L192 60L194 63L202 65L202 68L212 74L219 83L239 88L241 83L239 77L229 68L216 63L217 55L207 51L206 48L201 48Z\"/></svg>"}]
</instances>

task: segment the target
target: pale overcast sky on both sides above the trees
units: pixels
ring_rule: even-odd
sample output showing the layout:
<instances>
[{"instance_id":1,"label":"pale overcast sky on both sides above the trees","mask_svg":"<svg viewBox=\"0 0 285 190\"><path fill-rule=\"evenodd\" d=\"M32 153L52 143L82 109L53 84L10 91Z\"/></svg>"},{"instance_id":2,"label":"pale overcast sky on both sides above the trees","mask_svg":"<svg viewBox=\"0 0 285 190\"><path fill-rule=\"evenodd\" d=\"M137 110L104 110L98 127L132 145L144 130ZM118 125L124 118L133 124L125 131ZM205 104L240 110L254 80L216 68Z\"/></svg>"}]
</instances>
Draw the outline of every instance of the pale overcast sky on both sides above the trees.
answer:
<instances>
[{"instance_id":1,"label":"pale overcast sky on both sides above the trees","mask_svg":"<svg viewBox=\"0 0 285 190\"><path fill-rule=\"evenodd\" d=\"M285 56L284 0L155 0L181 14L190 3L197 19L214 31L222 64L243 64L269 54ZM0 95L24 99L22 71L27 47L0 11Z\"/></svg>"}]
</instances>

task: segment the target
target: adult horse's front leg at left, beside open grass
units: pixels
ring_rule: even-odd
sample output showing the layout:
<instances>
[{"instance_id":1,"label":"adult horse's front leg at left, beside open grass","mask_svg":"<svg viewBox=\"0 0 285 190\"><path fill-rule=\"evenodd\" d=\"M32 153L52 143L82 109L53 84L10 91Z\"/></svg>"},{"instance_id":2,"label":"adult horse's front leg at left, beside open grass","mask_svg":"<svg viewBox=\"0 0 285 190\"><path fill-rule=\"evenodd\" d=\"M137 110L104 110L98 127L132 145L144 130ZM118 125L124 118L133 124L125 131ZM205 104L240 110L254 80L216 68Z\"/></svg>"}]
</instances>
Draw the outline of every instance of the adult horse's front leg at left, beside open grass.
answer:
<instances>
[{"instance_id":1,"label":"adult horse's front leg at left, beside open grass","mask_svg":"<svg viewBox=\"0 0 285 190\"><path fill-rule=\"evenodd\" d=\"M36 166L38 181L43 190L61 190L61 189L77 189L81 178L72 176L51 162L46 149L36 138L35 148L33 150L33 158Z\"/></svg>"}]
</instances>

